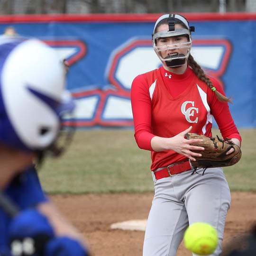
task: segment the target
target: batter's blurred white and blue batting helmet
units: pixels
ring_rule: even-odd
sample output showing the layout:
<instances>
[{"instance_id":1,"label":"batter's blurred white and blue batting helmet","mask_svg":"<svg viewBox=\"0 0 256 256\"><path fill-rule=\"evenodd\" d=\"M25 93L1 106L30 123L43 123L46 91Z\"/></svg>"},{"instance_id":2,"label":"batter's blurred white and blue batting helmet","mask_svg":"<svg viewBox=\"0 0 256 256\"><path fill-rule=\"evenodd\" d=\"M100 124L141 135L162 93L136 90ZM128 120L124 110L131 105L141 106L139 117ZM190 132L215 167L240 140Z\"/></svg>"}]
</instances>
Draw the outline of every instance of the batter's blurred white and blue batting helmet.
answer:
<instances>
[{"instance_id":1,"label":"batter's blurred white and blue batting helmet","mask_svg":"<svg viewBox=\"0 0 256 256\"><path fill-rule=\"evenodd\" d=\"M37 39L0 37L0 143L44 151L73 109L64 65L52 48Z\"/></svg>"}]
</instances>

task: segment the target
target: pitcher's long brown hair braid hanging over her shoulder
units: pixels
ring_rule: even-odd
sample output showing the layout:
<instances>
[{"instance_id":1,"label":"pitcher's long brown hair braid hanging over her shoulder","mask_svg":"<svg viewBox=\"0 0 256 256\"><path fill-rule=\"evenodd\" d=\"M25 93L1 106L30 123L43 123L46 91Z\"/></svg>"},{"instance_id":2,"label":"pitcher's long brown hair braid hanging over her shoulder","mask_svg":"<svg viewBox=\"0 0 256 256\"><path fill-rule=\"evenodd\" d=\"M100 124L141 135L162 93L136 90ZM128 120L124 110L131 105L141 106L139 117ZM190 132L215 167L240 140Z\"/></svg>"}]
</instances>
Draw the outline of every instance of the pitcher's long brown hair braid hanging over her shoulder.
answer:
<instances>
[{"instance_id":1,"label":"pitcher's long brown hair braid hanging over her shoulder","mask_svg":"<svg viewBox=\"0 0 256 256\"><path fill-rule=\"evenodd\" d=\"M207 84L207 86L212 90L213 88L215 89L215 94L216 97L219 101L225 102L232 102L230 98L227 98L226 96L224 96L223 94L221 94L219 91L216 90L216 88L212 85L212 82L210 81L209 77L204 73L204 71L202 70L201 66L199 64L196 63L196 61L194 60L194 58L192 57L192 55L189 55L188 58L188 64L189 66L192 68L193 72L197 75L197 77L205 82Z\"/></svg>"}]
</instances>

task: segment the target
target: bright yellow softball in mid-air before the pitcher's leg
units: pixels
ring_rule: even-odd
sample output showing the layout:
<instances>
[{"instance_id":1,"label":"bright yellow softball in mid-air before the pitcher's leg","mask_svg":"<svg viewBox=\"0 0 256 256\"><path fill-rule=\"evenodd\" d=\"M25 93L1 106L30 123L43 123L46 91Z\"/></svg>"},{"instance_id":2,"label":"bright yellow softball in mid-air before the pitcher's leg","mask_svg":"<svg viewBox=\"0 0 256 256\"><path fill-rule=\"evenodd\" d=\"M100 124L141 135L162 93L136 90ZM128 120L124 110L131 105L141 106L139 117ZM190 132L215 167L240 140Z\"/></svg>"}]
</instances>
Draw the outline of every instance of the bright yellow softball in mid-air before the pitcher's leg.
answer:
<instances>
[{"instance_id":1,"label":"bright yellow softball in mid-air before the pitcher's leg","mask_svg":"<svg viewBox=\"0 0 256 256\"><path fill-rule=\"evenodd\" d=\"M209 255L218 245L218 233L210 224L193 223L185 231L184 245L195 254Z\"/></svg>"}]
</instances>

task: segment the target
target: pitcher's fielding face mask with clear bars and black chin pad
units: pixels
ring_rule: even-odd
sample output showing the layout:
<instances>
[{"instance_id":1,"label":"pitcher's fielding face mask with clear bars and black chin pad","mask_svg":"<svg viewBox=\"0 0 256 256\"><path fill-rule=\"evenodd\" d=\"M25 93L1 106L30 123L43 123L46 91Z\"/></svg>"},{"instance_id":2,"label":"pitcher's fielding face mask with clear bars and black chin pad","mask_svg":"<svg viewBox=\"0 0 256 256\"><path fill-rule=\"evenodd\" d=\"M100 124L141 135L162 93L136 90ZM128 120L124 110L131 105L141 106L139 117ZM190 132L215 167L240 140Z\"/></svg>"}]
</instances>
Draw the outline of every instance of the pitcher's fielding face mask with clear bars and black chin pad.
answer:
<instances>
[{"instance_id":1,"label":"pitcher's fielding face mask with clear bars and black chin pad","mask_svg":"<svg viewBox=\"0 0 256 256\"><path fill-rule=\"evenodd\" d=\"M164 19L166 20L166 24L168 24L169 29L162 30L155 33L157 25ZM176 23L176 20L179 20L179 22L181 22L186 28L175 28L174 25ZM190 27L186 18L184 18L179 14L164 14L157 19L157 21L155 22L154 31L152 34L152 43L153 43L153 47L156 55L164 65L166 65L167 67L177 67L177 66L184 65L186 63L186 60L189 57L190 50L192 47L192 40L191 40L192 31L195 31L195 28ZM175 43L173 45L164 45L164 46L156 45L157 38L176 37L176 36L187 36L188 42L179 43L179 44ZM181 49L181 48L187 49L186 55L175 54L175 55L167 56L165 58L161 55L162 51L171 50L171 49Z\"/></svg>"}]
</instances>

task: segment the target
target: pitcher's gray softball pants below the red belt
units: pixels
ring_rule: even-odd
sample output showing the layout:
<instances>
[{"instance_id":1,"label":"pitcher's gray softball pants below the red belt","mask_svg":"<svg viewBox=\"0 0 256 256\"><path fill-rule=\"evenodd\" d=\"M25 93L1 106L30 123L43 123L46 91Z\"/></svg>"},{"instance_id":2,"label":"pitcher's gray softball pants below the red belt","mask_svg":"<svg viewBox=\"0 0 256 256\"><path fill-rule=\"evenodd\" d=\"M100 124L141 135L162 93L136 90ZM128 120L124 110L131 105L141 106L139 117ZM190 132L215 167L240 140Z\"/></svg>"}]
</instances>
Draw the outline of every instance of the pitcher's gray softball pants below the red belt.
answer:
<instances>
[{"instance_id":1,"label":"pitcher's gray softball pants below the red belt","mask_svg":"<svg viewBox=\"0 0 256 256\"><path fill-rule=\"evenodd\" d=\"M218 231L222 250L225 220L230 206L229 185L222 168L209 168L201 175L186 171L155 180L155 196L149 212L143 256L175 256L189 224L206 222ZM195 254L193 254L195 255Z\"/></svg>"}]
</instances>

